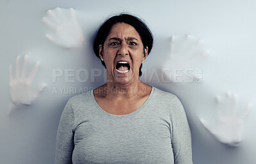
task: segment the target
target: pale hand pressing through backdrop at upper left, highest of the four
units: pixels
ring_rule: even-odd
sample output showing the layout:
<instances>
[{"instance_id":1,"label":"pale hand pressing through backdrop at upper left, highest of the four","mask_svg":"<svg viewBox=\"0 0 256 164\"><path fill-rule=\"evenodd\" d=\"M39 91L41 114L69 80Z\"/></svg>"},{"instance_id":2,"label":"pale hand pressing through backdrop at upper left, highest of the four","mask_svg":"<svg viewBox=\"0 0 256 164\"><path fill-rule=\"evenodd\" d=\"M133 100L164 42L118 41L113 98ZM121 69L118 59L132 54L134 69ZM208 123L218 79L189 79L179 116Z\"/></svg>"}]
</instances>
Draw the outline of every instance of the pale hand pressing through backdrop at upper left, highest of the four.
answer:
<instances>
[{"instance_id":1,"label":"pale hand pressing through backdrop at upper left, highest of the four","mask_svg":"<svg viewBox=\"0 0 256 164\"><path fill-rule=\"evenodd\" d=\"M83 31L77 23L73 8L48 10L42 20L55 31L54 34L45 34L45 37L53 43L65 48L76 48L82 45Z\"/></svg>"}]
</instances>

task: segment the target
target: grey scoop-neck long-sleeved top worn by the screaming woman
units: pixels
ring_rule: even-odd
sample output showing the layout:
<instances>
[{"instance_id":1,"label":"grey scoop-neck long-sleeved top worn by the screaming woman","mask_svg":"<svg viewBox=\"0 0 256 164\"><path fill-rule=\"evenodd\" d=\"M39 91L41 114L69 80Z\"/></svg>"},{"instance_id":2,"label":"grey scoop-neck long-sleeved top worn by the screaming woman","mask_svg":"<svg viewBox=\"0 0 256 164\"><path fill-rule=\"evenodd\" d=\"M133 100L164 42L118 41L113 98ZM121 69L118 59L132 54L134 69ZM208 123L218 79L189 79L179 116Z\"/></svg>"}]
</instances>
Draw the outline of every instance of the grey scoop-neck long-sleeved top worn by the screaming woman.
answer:
<instances>
[{"instance_id":1,"label":"grey scoop-neck long-sleeved top worn by the screaming woman","mask_svg":"<svg viewBox=\"0 0 256 164\"><path fill-rule=\"evenodd\" d=\"M191 164L191 133L177 96L152 87L131 114L109 114L93 90L68 100L57 133L56 164Z\"/></svg>"}]
</instances>

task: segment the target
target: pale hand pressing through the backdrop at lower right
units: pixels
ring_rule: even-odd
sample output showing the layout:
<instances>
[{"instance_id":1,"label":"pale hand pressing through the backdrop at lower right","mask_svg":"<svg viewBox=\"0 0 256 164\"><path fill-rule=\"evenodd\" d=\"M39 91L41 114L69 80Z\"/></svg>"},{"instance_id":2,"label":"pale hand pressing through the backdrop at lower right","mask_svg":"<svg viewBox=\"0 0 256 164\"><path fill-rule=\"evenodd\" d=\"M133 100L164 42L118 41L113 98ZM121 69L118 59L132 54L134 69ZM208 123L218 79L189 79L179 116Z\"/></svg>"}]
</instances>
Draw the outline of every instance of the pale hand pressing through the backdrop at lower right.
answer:
<instances>
[{"instance_id":1,"label":"pale hand pressing through the backdrop at lower right","mask_svg":"<svg viewBox=\"0 0 256 164\"><path fill-rule=\"evenodd\" d=\"M249 103L246 110L239 117L237 114L237 95L227 93L227 101L221 103L220 96L216 97L218 118L216 123L207 123L200 119L202 125L221 143L237 146L241 142L243 121L250 112L252 105Z\"/></svg>"}]
</instances>

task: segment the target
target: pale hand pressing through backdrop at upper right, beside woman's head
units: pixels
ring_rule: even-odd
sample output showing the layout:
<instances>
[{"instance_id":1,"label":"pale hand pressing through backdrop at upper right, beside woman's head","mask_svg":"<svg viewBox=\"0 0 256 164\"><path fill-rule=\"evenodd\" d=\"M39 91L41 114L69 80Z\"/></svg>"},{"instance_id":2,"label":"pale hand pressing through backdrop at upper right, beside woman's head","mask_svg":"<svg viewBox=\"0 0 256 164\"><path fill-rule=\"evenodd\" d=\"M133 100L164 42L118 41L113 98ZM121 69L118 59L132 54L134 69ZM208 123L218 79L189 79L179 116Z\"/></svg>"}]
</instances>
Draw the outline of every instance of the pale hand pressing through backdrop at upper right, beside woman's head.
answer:
<instances>
[{"instance_id":1,"label":"pale hand pressing through backdrop at upper right, beside woman's head","mask_svg":"<svg viewBox=\"0 0 256 164\"><path fill-rule=\"evenodd\" d=\"M209 54L204 41L195 36L172 36L170 55L161 67L164 77L172 82L200 82L202 69L194 68ZM177 75L179 73L179 75Z\"/></svg>"}]
</instances>

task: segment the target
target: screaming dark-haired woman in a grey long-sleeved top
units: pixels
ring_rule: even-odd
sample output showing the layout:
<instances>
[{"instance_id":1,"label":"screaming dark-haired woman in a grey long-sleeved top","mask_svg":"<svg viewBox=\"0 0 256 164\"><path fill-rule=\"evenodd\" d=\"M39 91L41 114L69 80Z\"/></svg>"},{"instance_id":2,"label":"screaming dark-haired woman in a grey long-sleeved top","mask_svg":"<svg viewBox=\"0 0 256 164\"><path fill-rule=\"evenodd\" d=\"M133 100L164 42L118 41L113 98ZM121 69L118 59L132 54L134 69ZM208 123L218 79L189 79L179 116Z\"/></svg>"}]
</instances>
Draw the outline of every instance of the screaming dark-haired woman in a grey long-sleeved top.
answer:
<instances>
[{"instance_id":1,"label":"screaming dark-haired woman in a grey long-sleeved top","mask_svg":"<svg viewBox=\"0 0 256 164\"><path fill-rule=\"evenodd\" d=\"M56 163L192 163L184 108L139 79L153 37L137 17L106 20L94 52L107 83L68 100L57 133Z\"/></svg>"}]
</instances>

